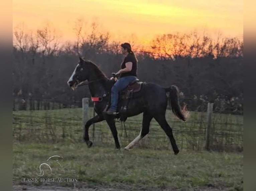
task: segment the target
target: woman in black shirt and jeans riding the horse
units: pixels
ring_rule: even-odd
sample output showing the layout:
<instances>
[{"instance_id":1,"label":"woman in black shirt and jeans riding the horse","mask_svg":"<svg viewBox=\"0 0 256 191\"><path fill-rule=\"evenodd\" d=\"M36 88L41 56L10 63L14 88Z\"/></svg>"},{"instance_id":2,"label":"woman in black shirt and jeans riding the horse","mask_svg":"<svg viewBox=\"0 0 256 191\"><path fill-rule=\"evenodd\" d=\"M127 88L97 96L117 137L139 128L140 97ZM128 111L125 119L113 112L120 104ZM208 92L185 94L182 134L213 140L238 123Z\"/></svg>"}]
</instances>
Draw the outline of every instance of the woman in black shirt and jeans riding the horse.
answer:
<instances>
[{"instance_id":1,"label":"woman in black shirt and jeans riding the horse","mask_svg":"<svg viewBox=\"0 0 256 191\"><path fill-rule=\"evenodd\" d=\"M117 110L118 93L125 89L130 82L137 79L137 58L131 49L129 43L121 44L122 54L125 55L124 61L121 64L121 70L116 75L120 74L119 80L116 81L111 89L111 106L106 111L107 114L114 114ZM111 80L114 77L111 78Z\"/></svg>"}]
</instances>

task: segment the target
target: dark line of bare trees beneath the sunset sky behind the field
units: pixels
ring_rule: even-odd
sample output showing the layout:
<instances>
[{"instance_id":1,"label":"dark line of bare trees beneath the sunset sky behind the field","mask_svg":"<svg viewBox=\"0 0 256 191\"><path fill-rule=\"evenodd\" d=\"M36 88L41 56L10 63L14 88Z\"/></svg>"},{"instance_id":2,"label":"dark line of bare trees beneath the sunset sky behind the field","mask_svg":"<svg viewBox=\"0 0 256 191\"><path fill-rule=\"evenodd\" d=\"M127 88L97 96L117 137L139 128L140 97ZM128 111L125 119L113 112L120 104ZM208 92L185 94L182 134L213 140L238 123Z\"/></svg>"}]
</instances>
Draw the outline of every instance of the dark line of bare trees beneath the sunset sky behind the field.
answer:
<instances>
[{"instance_id":1,"label":"dark line of bare trees beneath the sunset sky behind the field","mask_svg":"<svg viewBox=\"0 0 256 191\"><path fill-rule=\"evenodd\" d=\"M30 34L16 29L13 32L13 96L62 103L90 96L86 86L71 91L67 85L78 62L78 52L97 64L107 76L117 72L123 60L121 42L110 41L109 33L98 31L95 23L90 33L85 34L83 30L78 24L77 41L60 44L50 26ZM214 99L227 104L236 100L236 107L243 110L243 40L221 36L214 40L191 32L159 35L150 47L136 48L134 39L127 41L138 58L141 81L163 87L175 84L184 102ZM192 107L197 108L194 105Z\"/></svg>"}]
</instances>

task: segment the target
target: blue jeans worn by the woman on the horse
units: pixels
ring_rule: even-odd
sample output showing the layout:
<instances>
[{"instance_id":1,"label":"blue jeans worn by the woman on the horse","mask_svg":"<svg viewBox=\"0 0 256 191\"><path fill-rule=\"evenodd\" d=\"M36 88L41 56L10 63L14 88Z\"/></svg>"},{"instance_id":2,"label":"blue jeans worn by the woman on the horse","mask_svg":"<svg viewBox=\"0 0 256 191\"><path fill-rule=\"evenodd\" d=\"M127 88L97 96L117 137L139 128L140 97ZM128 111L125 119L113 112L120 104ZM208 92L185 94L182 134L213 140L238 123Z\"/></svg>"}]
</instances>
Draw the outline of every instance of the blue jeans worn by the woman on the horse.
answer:
<instances>
[{"instance_id":1,"label":"blue jeans worn by the woman on the horse","mask_svg":"<svg viewBox=\"0 0 256 191\"><path fill-rule=\"evenodd\" d=\"M116 83L114 84L114 86L111 89L110 109L114 109L116 111L117 103L118 103L118 93L121 90L125 89L129 85L129 83L135 79L136 79L135 76L126 76L126 77L120 78L118 81L116 81Z\"/></svg>"}]
</instances>

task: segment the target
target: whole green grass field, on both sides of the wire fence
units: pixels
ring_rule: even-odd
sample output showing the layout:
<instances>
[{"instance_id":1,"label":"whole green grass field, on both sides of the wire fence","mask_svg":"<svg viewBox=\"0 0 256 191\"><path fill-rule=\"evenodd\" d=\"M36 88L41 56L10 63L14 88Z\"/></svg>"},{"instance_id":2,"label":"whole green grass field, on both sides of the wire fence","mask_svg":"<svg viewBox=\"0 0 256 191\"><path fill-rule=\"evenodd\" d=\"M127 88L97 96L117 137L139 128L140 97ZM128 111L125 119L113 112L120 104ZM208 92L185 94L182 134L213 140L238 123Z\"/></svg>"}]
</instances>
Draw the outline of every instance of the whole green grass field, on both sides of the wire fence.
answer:
<instances>
[{"instance_id":1,"label":"whole green grass field, on both sides of the wire fence","mask_svg":"<svg viewBox=\"0 0 256 191\"><path fill-rule=\"evenodd\" d=\"M89 115L92 114L90 110ZM155 120L151 122L149 135L131 151L124 151L114 149L106 122L95 125L94 138L91 127L94 145L87 148L82 142L81 108L14 111L14 184L24 189L48 184L65 185L65 189L243 190L242 152L203 151L205 113L191 112L185 123L176 120L169 110L166 116L181 149L177 156L170 150L169 140ZM216 145L226 149L243 147L243 116L214 114L212 126L213 148ZM123 148L138 135L141 115L127 120L128 138L120 136L119 123L117 128ZM37 178L39 165L52 155L63 156L63 167L54 166L56 175L45 169L44 177L76 178L76 184L21 182L21 178ZM43 190L41 186L38 188Z\"/></svg>"}]
</instances>

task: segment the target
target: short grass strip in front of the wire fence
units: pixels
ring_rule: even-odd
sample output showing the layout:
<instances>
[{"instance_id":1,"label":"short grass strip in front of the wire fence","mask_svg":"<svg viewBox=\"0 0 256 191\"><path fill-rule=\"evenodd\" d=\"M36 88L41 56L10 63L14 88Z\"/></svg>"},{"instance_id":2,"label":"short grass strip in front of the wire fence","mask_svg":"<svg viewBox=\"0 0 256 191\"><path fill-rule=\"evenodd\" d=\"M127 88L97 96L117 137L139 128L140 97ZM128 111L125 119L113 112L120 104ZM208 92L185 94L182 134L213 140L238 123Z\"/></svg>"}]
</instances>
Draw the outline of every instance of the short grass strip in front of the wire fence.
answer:
<instances>
[{"instance_id":1,"label":"short grass strip in front of the wire fence","mask_svg":"<svg viewBox=\"0 0 256 191\"><path fill-rule=\"evenodd\" d=\"M44 169L44 178L76 178L78 183L134 190L209 186L243 190L243 154L181 151L175 156L169 150L124 151L103 144L87 148L84 143L14 143L14 182L37 178L39 165L52 155L63 156L63 167L54 167L56 175Z\"/></svg>"}]
</instances>

